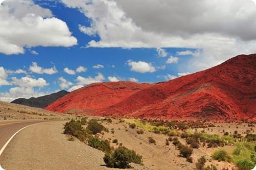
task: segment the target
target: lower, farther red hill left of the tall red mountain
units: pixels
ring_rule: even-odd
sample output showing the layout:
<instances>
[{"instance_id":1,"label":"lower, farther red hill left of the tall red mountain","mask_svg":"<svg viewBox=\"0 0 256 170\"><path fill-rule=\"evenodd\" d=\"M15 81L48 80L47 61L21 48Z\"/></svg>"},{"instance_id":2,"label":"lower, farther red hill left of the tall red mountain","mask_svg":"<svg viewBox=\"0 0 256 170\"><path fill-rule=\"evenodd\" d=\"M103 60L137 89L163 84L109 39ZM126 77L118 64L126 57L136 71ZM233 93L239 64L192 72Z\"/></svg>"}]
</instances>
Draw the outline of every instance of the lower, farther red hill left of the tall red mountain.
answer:
<instances>
[{"instance_id":1,"label":"lower, farther red hill left of the tall red mountain","mask_svg":"<svg viewBox=\"0 0 256 170\"><path fill-rule=\"evenodd\" d=\"M76 112L77 109L82 109L89 113L94 109L106 108L116 104L150 86L152 85L134 82L93 83L67 94L49 104L46 109L62 113L66 111ZM81 112L79 110L78 112Z\"/></svg>"}]
</instances>

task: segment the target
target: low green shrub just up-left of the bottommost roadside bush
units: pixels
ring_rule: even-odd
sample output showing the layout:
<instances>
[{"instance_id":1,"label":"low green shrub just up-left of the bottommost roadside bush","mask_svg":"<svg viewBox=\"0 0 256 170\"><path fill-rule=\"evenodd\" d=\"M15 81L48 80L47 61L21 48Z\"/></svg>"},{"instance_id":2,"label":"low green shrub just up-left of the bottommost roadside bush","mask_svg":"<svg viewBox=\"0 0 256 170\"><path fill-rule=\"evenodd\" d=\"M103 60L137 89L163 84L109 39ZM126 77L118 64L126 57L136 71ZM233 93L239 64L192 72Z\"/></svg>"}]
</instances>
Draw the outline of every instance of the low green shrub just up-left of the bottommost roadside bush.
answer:
<instances>
[{"instance_id":1,"label":"low green shrub just up-left of the bottommost roadside bush","mask_svg":"<svg viewBox=\"0 0 256 170\"><path fill-rule=\"evenodd\" d=\"M100 139L96 137L91 137L88 139L88 146L99 149L100 151L103 152L110 152L111 147L109 141L101 141Z\"/></svg>"}]
</instances>

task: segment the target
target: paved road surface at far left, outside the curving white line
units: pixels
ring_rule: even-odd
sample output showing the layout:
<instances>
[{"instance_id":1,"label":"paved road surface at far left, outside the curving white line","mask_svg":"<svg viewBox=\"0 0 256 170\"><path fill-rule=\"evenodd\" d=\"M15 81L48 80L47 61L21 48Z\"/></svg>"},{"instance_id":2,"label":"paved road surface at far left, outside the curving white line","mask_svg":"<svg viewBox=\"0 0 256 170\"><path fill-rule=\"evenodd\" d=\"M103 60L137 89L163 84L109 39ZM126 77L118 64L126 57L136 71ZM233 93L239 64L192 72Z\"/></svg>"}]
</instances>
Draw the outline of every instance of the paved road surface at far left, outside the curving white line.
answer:
<instances>
[{"instance_id":1,"label":"paved road surface at far left, outside the curving white line","mask_svg":"<svg viewBox=\"0 0 256 170\"><path fill-rule=\"evenodd\" d=\"M13 136L19 129L30 124L40 123L45 121L1 121L0 122L0 150L6 144L9 138Z\"/></svg>"}]
</instances>

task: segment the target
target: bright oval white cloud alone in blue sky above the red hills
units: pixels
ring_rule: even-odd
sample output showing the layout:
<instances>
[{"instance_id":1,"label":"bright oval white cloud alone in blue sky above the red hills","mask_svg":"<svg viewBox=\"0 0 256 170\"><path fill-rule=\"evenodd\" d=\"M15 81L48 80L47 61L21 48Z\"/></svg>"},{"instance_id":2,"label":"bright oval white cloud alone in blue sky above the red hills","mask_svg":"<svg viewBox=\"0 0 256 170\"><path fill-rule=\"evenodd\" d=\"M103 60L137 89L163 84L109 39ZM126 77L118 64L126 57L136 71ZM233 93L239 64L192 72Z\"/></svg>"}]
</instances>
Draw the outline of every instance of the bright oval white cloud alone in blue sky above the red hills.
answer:
<instances>
[{"instance_id":1,"label":"bright oval white cloud alone in blue sky above the red hills","mask_svg":"<svg viewBox=\"0 0 256 170\"><path fill-rule=\"evenodd\" d=\"M146 63L142 61L134 62L132 60L129 60L127 61L127 65L130 66L131 71L139 73L152 73L156 71L155 67L153 67L151 63Z\"/></svg>"}]
</instances>

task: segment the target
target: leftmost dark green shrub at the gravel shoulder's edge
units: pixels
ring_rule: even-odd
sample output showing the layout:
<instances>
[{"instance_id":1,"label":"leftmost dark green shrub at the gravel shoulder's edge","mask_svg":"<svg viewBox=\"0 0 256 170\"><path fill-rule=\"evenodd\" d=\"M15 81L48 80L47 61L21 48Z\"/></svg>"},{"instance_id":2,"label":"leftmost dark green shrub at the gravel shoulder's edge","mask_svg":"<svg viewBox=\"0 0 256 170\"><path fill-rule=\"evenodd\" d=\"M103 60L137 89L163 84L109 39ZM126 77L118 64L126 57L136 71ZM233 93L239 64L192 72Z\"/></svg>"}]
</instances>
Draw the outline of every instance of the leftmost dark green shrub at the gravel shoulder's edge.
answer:
<instances>
[{"instance_id":1,"label":"leftmost dark green shrub at the gravel shoulder's edge","mask_svg":"<svg viewBox=\"0 0 256 170\"><path fill-rule=\"evenodd\" d=\"M77 137L80 141L85 141L87 138L87 131L82 127L80 121L71 120L70 122L66 122L64 125L64 134L70 134L72 136Z\"/></svg>"}]
</instances>

